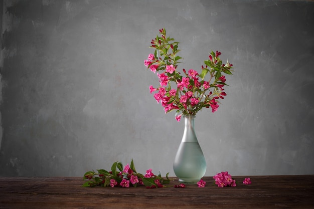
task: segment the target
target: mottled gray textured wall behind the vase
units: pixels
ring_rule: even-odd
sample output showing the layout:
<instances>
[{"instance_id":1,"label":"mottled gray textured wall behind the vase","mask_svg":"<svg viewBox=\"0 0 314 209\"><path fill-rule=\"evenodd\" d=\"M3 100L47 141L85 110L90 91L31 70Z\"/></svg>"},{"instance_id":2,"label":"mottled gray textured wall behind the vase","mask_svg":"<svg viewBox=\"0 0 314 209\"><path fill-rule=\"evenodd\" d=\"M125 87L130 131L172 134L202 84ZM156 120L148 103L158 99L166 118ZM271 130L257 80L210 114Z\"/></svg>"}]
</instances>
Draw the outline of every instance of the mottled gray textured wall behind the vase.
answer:
<instances>
[{"instance_id":1,"label":"mottled gray textured wall behind the vase","mask_svg":"<svg viewBox=\"0 0 314 209\"><path fill-rule=\"evenodd\" d=\"M165 27L180 68L234 64L218 112L199 112L206 175L314 174L314 2L0 1L2 176L82 176L133 158L173 172L183 121L149 94Z\"/></svg>"}]
</instances>

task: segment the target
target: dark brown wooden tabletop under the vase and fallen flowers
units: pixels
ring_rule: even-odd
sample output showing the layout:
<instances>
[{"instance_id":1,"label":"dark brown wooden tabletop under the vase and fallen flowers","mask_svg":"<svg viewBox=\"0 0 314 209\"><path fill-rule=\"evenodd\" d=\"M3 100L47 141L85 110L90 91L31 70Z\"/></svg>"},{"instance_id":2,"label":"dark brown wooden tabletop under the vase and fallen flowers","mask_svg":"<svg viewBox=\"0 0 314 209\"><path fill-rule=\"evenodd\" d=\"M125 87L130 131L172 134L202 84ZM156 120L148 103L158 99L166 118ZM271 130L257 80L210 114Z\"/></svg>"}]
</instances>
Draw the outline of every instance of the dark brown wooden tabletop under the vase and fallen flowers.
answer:
<instances>
[{"instance_id":1,"label":"dark brown wooden tabletop under the vase and fallen flowers","mask_svg":"<svg viewBox=\"0 0 314 209\"><path fill-rule=\"evenodd\" d=\"M314 175L233 176L237 186L223 188L203 179L204 188L146 189L82 187L80 177L0 177L0 208L314 208Z\"/></svg>"}]
</instances>

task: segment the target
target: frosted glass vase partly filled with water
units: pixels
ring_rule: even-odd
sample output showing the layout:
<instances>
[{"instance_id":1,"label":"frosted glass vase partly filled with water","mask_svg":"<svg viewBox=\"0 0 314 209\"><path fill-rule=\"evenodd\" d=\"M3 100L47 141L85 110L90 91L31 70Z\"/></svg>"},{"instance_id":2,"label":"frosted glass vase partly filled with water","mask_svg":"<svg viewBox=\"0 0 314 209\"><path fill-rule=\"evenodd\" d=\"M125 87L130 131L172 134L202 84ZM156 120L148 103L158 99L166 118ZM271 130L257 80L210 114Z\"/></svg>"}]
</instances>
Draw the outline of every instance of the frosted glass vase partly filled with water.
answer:
<instances>
[{"instance_id":1,"label":"frosted glass vase partly filled with water","mask_svg":"<svg viewBox=\"0 0 314 209\"><path fill-rule=\"evenodd\" d=\"M174 171L182 183L197 183L206 172L206 161L194 129L195 116L184 117L184 133L178 148Z\"/></svg>"}]
</instances>

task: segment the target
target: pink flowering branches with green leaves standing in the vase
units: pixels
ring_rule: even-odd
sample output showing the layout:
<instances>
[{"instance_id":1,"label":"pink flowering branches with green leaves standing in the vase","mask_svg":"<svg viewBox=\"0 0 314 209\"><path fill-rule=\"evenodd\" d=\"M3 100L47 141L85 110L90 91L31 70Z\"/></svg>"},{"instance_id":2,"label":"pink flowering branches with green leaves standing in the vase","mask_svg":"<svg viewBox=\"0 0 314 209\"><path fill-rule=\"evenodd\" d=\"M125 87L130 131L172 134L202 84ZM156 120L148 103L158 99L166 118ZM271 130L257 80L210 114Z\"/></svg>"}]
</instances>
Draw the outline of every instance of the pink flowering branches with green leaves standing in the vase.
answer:
<instances>
[{"instance_id":1,"label":"pink flowering branches with green leaves standing in the vase","mask_svg":"<svg viewBox=\"0 0 314 209\"><path fill-rule=\"evenodd\" d=\"M204 61L201 73L190 69L183 69L184 75L177 71L179 60L177 56L179 42L166 37L166 30L160 30L160 36L151 40L150 48L154 48L154 54L149 54L144 61L147 69L156 73L160 86L149 86L150 93L158 103L161 103L165 113L176 110L176 119L180 121L181 115L196 115L203 107L217 111L218 99L224 99L227 95L224 91L226 78L224 74L232 74L232 64L228 61L223 64L220 60L221 52L211 52L209 59ZM209 79L205 76L209 75ZM174 88L172 87L174 84Z\"/></svg>"}]
</instances>

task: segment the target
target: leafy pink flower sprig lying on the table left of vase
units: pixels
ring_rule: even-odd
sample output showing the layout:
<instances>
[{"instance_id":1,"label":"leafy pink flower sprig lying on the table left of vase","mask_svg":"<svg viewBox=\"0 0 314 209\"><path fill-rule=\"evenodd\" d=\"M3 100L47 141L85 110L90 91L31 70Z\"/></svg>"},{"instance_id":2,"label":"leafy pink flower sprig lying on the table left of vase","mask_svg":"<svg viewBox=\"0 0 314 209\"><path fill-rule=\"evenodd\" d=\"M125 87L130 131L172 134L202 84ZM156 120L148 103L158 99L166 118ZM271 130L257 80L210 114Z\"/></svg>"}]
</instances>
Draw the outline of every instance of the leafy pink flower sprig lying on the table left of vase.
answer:
<instances>
[{"instance_id":1,"label":"leafy pink flower sprig lying on the table left of vase","mask_svg":"<svg viewBox=\"0 0 314 209\"><path fill-rule=\"evenodd\" d=\"M122 166L121 162L114 162L110 171L104 169L95 171L88 171L84 174L83 179L86 180L83 186L121 186L121 187L136 187L137 185L145 185L146 188L164 187L164 184L168 184L170 179L168 173L166 179L159 173L155 175L151 169L146 170L143 175L137 173L134 167L133 160L130 165Z\"/></svg>"}]
</instances>

